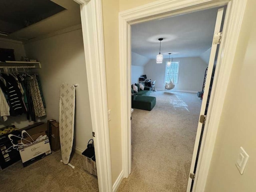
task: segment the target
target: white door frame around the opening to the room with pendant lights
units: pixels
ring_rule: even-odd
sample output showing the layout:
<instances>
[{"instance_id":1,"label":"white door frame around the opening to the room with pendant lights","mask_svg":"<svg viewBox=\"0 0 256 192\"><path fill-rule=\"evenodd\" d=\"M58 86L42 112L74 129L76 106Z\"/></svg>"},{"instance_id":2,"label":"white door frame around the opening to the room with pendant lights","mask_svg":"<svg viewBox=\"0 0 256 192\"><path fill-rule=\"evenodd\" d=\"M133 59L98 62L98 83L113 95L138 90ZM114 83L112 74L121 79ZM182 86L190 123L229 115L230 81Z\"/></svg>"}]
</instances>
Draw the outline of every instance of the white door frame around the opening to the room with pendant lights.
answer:
<instances>
[{"instance_id":1,"label":"white door frame around the opening to the room with pendant lights","mask_svg":"<svg viewBox=\"0 0 256 192\"><path fill-rule=\"evenodd\" d=\"M131 25L156 18L227 5L222 43L220 44L218 64L215 70L208 108L208 118L206 119L204 128L205 131L193 187L193 191L203 192L210 168L222 106L234 61L246 2L247 0L159 0L119 13L122 168L125 178L127 178L131 172L132 163L130 130Z\"/></svg>"}]
</instances>

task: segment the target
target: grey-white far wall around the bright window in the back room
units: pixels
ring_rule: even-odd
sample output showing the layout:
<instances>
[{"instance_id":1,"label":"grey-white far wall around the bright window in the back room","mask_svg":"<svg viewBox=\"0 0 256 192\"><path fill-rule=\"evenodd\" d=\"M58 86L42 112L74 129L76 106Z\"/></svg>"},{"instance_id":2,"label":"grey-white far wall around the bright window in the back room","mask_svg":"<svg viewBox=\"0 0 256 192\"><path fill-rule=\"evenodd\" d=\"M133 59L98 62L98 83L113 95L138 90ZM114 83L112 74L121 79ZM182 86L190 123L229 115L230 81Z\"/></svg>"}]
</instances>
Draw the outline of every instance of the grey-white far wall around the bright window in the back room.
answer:
<instances>
[{"instance_id":1,"label":"grey-white far wall around the bright window in the back room","mask_svg":"<svg viewBox=\"0 0 256 192\"><path fill-rule=\"evenodd\" d=\"M148 79L156 80L156 89L164 89L165 64L168 59L164 59L162 64L156 64L152 59L145 65L145 74ZM180 61L178 84L173 90L198 92L202 90L204 72L207 64L199 57L174 58L173 61Z\"/></svg>"}]
</instances>

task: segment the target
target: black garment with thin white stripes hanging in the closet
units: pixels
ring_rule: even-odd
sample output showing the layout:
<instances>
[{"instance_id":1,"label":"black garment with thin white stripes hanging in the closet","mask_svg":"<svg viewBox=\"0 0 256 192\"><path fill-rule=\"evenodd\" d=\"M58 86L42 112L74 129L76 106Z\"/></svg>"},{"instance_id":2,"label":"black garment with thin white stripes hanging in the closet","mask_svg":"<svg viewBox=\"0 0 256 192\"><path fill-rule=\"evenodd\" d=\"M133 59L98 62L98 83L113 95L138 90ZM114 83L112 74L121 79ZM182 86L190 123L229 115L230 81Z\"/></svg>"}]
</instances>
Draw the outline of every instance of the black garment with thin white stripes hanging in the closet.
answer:
<instances>
[{"instance_id":1,"label":"black garment with thin white stripes hanging in the closet","mask_svg":"<svg viewBox=\"0 0 256 192\"><path fill-rule=\"evenodd\" d=\"M17 116L22 113L26 113L26 106L22 99L22 94L16 82L16 79L8 74L1 74L2 78L6 81L6 86L4 87L1 84L1 88L5 91L5 94L8 97L8 104L10 107L10 115Z\"/></svg>"}]
</instances>

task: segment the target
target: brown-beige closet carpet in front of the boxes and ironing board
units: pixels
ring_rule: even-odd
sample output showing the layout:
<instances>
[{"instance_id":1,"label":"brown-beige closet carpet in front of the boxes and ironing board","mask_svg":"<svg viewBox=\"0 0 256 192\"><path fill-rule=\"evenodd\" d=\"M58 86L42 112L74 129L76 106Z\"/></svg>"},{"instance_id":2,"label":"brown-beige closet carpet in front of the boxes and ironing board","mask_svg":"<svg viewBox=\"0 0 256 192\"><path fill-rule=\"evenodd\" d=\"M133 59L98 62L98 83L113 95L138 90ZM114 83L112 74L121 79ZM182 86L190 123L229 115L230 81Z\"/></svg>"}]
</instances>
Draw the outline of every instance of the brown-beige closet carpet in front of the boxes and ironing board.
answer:
<instances>
[{"instance_id":1,"label":"brown-beige closet carpet in front of the boxes and ironing board","mask_svg":"<svg viewBox=\"0 0 256 192\"><path fill-rule=\"evenodd\" d=\"M82 169L82 156L72 154L72 169L60 162L60 151L23 168L22 162L0 171L1 192L98 192L97 178Z\"/></svg>"}]
</instances>

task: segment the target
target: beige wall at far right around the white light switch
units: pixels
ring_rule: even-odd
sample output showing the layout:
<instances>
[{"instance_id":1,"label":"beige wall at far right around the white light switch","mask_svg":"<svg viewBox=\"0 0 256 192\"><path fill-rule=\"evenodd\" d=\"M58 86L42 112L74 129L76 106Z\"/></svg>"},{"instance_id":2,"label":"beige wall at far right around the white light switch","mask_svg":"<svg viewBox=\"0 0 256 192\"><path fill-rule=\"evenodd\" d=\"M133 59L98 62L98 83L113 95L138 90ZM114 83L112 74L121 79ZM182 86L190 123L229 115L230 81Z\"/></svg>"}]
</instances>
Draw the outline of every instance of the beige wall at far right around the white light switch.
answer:
<instances>
[{"instance_id":1,"label":"beige wall at far right around the white light switch","mask_svg":"<svg viewBox=\"0 0 256 192\"><path fill-rule=\"evenodd\" d=\"M256 1L248 0L206 192L256 191ZM244 174L235 166L242 146L250 158Z\"/></svg>"}]
</instances>

